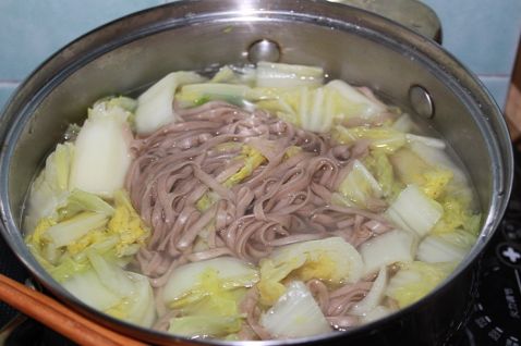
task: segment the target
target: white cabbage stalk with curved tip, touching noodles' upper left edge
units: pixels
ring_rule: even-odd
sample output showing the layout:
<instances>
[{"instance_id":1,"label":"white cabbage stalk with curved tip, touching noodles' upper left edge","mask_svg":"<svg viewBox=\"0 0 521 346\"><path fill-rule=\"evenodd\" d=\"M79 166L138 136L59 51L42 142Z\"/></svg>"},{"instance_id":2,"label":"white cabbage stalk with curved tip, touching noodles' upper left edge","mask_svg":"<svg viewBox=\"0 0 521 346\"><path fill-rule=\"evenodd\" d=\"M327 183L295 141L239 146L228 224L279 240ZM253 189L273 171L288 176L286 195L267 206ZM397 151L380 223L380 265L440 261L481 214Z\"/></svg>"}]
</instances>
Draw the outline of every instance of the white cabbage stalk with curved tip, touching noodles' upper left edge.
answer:
<instances>
[{"instance_id":1,"label":"white cabbage stalk with curved tip, touching noodles' upper left edge","mask_svg":"<svg viewBox=\"0 0 521 346\"><path fill-rule=\"evenodd\" d=\"M202 83L204 77L195 72L172 72L149 87L137 98L135 127L140 135L155 132L162 125L175 121L173 96L185 84Z\"/></svg>"}]
</instances>

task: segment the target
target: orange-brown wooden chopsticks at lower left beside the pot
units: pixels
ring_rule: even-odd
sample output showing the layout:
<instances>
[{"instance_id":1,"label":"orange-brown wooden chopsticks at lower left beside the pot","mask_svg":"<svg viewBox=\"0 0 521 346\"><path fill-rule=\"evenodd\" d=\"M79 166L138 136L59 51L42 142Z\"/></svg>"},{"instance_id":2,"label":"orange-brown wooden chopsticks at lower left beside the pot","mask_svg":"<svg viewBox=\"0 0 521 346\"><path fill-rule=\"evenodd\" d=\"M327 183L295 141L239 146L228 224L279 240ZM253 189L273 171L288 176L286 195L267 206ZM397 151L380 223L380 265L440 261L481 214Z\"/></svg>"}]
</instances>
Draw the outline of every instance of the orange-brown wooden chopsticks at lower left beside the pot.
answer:
<instances>
[{"instance_id":1,"label":"orange-brown wooden chopsticks at lower left beside the pot","mask_svg":"<svg viewBox=\"0 0 521 346\"><path fill-rule=\"evenodd\" d=\"M0 274L0 300L68 336L80 345L146 345L97 324L54 299L2 274Z\"/></svg>"}]
</instances>

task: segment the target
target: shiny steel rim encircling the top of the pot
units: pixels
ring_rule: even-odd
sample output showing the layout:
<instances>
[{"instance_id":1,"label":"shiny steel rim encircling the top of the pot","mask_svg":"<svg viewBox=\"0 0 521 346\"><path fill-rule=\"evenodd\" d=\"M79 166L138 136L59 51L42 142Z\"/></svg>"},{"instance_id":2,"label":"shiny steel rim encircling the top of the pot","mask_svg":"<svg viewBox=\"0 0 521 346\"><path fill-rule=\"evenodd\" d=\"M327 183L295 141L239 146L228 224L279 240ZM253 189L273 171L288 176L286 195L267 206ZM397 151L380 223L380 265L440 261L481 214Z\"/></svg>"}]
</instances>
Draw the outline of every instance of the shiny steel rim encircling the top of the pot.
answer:
<instances>
[{"instance_id":1,"label":"shiny steel rim encircling the top of the pot","mask_svg":"<svg viewBox=\"0 0 521 346\"><path fill-rule=\"evenodd\" d=\"M197 12L197 10L199 12ZM175 13L178 16L169 17L167 13ZM58 284L31 255L23 242L19 226L13 219L9 203L8 174L11 164L10 159L14 150L11 144L17 140L34 110L54 87L66 79L72 73L80 70L84 64L133 40L163 30L204 23L208 20L253 22L269 21L272 18L300 21L313 25L328 26L338 30L355 30L359 35L378 39L383 45L403 49L420 60L426 69L443 73L443 81L463 99L465 106L470 108L472 112L482 115L481 118L475 118L475 121L481 127L482 135L488 134L490 138L494 138L494 140L488 140L487 144L488 155L495 163L492 170L494 194L489 205L489 212L482 225L481 235L471 252L467 255L465 259L444 283L439 284L417 302L384 319L341 333L336 332L283 342L209 342L215 345L293 345L304 342L331 339L349 334L367 333L391 319L399 319L410 311L417 309L425 300L433 299L443 293L447 289L447 283L460 275L461 272L469 268L483 252L497 228L508 203L513 176L513 153L506 123L490 94L485 89L477 77L465 69L455 57L433 40L422 37L404 26L390 22L379 15L344 4L322 0L221 0L218 4L211 0L178 1L126 15L102 25L66 45L38 66L20 85L4 107L3 121L0 123L0 140L3 143L2 151L0 152L0 211L2 217L2 226L0 228L16 257L38 281L43 282L44 285L52 294L59 296L62 301L65 301L74 309L78 309L90 318L99 320L99 318L102 317L101 323L108 323L119 331L126 331L128 329L134 330L138 332L140 336L146 337L146 339L153 339L159 343L175 339L189 341L187 338L166 332L153 331L117 320L86 306ZM356 18L356 21L348 21L349 18ZM119 32L122 27L125 27L128 30ZM118 32L120 34L126 34L119 36ZM440 66L444 67L440 70ZM467 94L462 92L462 90L467 90ZM198 343L197 341L190 342Z\"/></svg>"}]
</instances>

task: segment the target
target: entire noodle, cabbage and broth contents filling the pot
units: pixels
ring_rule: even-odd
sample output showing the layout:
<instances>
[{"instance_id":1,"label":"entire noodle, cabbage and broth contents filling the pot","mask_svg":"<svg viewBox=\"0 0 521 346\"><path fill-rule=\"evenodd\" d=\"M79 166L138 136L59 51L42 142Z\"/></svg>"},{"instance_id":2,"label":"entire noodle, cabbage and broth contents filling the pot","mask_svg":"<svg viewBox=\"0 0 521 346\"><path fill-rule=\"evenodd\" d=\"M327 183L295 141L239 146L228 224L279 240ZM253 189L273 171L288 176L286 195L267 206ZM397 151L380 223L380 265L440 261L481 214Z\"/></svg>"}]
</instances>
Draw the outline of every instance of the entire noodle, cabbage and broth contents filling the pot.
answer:
<instances>
[{"instance_id":1,"label":"entire noodle, cabbage and broth contents filling the pot","mask_svg":"<svg viewBox=\"0 0 521 346\"><path fill-rule=\"evenodd\" d=\"M428 294L481 214L447 144L315 66L173 72L98 100L32 185L25 240L89 306L192 338L346 331Z\"/></svg>"}]
</instances>

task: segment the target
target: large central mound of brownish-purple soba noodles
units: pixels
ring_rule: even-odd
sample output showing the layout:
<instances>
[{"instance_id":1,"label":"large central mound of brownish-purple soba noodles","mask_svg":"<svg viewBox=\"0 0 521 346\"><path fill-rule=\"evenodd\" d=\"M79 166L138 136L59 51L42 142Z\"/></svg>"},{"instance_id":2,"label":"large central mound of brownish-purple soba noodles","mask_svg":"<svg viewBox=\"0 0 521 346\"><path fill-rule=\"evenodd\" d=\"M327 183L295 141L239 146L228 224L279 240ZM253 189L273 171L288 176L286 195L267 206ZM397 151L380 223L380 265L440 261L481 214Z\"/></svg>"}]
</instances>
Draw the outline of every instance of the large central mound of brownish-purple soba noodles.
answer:
<instances>
[{"instance_id":1,"label":"large central mound of brownish-purple soba noodles","mask_svg":"<svg viewBox=\"0 0 521 346\"><path fill-rule=\"evenodd\" d=\"M354 246L391 228L377 213L331 206L331 195L367 149L335 145L327 137L295 128L265 111L250 113L215 101L178 113L182 122L162 127L132 145L135 159L125 187L153 231L138 261L143 272L163 275L181 257L193 260L222 255L257 262L275 247L341 236ZM220 150L226 144L241 144ZM242 145L268 162L244 182L222 184L244 160ZM288 150L302 151L284 160ZM353 156L354 152L354 156ZM209 191L218 201L198 210ZM373 201L375 210L386 206ZM208 249L194 251L197 235L208 228Z\"/></svg>"}]
</instances>

